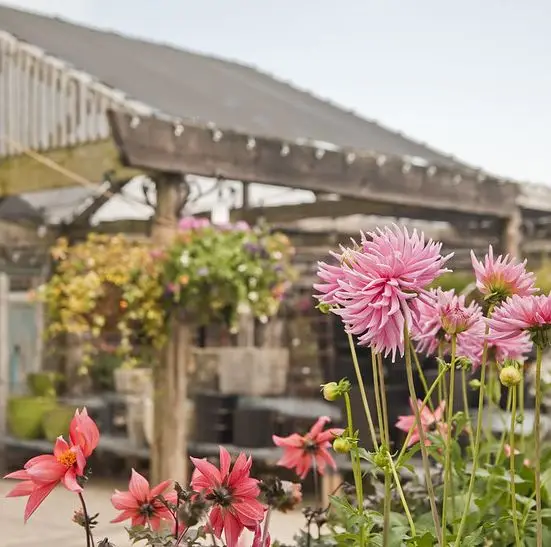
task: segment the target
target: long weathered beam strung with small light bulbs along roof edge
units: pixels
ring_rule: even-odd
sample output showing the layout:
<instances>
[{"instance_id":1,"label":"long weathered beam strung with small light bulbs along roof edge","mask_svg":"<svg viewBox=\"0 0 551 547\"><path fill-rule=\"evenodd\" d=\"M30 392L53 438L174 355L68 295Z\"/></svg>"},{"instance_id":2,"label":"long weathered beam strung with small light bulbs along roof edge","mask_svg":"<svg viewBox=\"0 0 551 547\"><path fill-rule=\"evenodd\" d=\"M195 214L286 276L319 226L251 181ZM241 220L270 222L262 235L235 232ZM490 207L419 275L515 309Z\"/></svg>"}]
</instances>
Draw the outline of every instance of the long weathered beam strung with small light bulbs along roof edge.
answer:
<instances>
[{"instance_id":1,"label":"long weathered beam strung with small light bulbs along roof edge","mask_svg":"<svg viewBox=\"0 0 551 547\"><path fill-rule=\"evenodd\" d=\"M419 166L352 149L321 150L281 139L109 111L125 165L283 185L354 199L470 215L507 217L516 184L475 172Z\"/></svg>"}]
</instances>

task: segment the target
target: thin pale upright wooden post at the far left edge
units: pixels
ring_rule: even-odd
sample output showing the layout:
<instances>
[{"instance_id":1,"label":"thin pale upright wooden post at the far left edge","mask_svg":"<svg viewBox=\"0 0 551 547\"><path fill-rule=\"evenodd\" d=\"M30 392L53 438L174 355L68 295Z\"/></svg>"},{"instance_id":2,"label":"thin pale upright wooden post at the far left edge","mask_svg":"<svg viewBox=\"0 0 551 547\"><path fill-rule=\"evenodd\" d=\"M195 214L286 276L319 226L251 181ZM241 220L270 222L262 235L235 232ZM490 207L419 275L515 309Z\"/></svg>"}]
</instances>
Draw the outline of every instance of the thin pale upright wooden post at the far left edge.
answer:
<instances>
[{"instance_id":1,"label":"thin pale upright wooden post at the far left edge","mask_svg":"<svg viewBox=\"0 0 551 547\"><path fill-rule=\"evenodd\" d=\"M6 471L7 407L10 381L9 352L9 296L10 281L5 273L0 273L0 475Z\"/></svg>"}]
</instances>

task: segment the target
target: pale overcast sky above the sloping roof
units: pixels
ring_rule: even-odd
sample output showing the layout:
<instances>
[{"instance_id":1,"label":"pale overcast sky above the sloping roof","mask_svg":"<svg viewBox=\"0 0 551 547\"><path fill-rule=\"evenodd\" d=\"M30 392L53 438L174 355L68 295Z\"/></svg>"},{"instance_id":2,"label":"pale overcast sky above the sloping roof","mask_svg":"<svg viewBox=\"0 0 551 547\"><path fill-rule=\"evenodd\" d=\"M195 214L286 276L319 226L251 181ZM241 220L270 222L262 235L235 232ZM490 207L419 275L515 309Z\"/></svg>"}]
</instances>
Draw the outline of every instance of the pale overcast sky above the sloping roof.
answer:
<instances>
[{"instance_id":1,"label":"pale overcast sky above the sloping roof","mask_svg":"<svg viewBox=\"0 0 551 547\"><path fill-rule=\"evenodd\" d=\"M551 183L549 0L0 0L254 64L463 160Z\"/></svg>"}]
</instances>

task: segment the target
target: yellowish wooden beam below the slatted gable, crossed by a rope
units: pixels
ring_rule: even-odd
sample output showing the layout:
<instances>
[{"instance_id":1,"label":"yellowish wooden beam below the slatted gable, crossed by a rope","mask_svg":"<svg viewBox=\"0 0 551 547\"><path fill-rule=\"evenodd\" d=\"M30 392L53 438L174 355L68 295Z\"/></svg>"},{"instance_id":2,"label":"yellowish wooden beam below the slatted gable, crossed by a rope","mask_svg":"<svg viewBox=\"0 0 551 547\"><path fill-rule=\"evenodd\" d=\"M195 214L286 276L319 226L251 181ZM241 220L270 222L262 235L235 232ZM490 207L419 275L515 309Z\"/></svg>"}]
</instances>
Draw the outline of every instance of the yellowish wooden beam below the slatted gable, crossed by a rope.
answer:
<instances>
[{"instance_id":1,"label":"yellowish wooden beam below the slatted gable, crossed by a rope","mask_svg":"<svg viewBox=\"0 0 551 547\"><path fill-rule=\"evenodd\" d=\"M140 169L128 168L122 164L118 149L111 139L40 152L40 157L98 184L105 180L106 174L115 179L130 179L143 174ZM75 184L76 181L72 178L26 154L0 159L0 195Z\"/></svg>"}]
</instances>

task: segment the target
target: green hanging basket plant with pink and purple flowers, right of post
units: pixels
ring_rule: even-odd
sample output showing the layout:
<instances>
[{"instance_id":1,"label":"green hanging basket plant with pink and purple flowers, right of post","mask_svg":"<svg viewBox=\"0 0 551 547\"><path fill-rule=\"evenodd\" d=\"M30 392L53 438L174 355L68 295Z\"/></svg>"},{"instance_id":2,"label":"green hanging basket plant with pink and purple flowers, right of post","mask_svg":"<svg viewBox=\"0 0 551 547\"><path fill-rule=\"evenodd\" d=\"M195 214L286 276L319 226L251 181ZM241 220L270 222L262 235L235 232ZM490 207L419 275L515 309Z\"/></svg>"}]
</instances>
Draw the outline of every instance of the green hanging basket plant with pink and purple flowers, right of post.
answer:
<instances>
[{"instance_id":1,"label":"green hanging basket plant with pink and purple flowers, right of post","mask_svg":"<svg viewBox=\"0 0 551 547\"><path fill-rule=\"evenodd\" d=\"M266 322L294 278L293 252L284 234L266 228L184 219L161 258L167 302L198 324L223 321L235 330L243 313Z\"/></svg>"}]
</instances>

